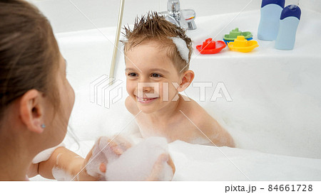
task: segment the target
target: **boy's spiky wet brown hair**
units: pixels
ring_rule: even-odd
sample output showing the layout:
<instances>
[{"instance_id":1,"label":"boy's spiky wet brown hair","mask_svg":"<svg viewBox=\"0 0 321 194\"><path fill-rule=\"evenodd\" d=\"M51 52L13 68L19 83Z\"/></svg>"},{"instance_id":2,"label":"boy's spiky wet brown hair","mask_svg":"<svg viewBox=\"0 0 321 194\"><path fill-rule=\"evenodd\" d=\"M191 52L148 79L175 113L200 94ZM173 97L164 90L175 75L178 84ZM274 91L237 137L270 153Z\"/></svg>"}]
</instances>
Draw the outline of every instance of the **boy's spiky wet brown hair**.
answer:
<instances>
[{"instance_id":1,"label":"boy's spiky wet brown hair","mask_svg":"<svg viewBox=\"0 0 321 194\"><path fill-rule=\"evenodd\" d=\"M180 57L175 43L170 39L170 37L177 37L185 41L189 50L188 61L190 61L190 56L193 53L192 41L186 36L183 28L166 21L165 17L158 15L157 12L148 12L146 16L136 18L133 30L131 30L129 26L125 26L124 29L125 33L123 33L123 35L127 40L121 42L124 44L125 54L128 50L131 50L131 48L145 41L157 41L160 43L161 49L166 49L168 57L173 61L178 72L188 70L189 63Z\"/></svg>"}]
</instances>

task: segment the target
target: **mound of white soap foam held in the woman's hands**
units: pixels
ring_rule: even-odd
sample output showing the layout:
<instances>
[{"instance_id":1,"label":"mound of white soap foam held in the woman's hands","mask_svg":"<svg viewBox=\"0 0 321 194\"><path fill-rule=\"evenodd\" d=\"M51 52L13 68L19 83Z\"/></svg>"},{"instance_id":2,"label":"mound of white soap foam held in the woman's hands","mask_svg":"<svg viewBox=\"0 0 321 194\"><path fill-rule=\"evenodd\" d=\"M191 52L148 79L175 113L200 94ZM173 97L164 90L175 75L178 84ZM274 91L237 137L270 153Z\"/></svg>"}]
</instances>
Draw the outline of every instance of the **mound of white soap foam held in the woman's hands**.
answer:
<instances>
[{"instance_id":1,"label":"mound of white soap foam held in the woman's hands","mask_svg":"<svg viewBox=\"0 0 321 194\"><path fill-rule=\"evenodd\" d=\"M156 161L162 154L168 154L165 138L145 139L128 149L116 161L108 163L106 180L148 180ZM163 169L157 173L156 180L171 180L173 170L166 160L162 162Z\"/></svg>"}]
</instances>

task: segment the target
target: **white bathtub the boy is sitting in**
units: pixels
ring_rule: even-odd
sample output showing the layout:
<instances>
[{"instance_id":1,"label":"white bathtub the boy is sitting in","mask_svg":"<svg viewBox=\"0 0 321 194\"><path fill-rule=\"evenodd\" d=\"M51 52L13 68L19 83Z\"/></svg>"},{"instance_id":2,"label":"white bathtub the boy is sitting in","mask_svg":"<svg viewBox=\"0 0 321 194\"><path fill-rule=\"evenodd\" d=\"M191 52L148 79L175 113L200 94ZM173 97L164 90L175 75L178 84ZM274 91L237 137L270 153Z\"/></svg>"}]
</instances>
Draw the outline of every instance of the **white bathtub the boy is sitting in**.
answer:
<instances>
[{"instance_id":1,"label":"white bathtub the boy is sitting in","mask_svg":"<svg viewBox=\"0 0 321 194\"><path fill-rule=\"evenodd\" d=\"M237 14L196 18L198 29L188 32L194 48L205 38L221 40L235 27L253 32L258 41L259 8L232 21ZM116 97L117 91L121 98L108 108L91 102L91 83L109 73L116 33L115 27L99 30L56 33L76 92L70 124L81 143L77 151L81 155L98 136L137 129L124 107L123 54L118 54L115 70L119 85L111 93ZM265 41L258 41L260 46L251 53L225 48L216 55L198 55L194 50L190 64L194 82L210 82L213 87L206 88L205 101L200 99L199 87L191 86L185 94L230 131L238 149L176 141L170 144L177 169L174 180L321 180L320 30L321 14L302 9L294 50L275 50L274 42ZM232 102L224 98L210 102L218 82L224 83ZM67 146L74 144L68 136L65 141Z\"/></svg>"}]
</instances>

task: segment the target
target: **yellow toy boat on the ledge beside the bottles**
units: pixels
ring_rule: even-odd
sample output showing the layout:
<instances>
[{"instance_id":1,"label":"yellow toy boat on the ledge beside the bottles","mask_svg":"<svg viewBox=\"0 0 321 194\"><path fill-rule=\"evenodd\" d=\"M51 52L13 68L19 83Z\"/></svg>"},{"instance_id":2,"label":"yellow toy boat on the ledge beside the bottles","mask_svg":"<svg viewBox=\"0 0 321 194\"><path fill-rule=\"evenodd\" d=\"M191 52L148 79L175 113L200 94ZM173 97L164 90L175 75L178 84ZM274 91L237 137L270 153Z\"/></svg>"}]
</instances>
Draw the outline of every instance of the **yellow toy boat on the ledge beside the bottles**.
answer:
<instances>
[{"instance_id":1,"label":"yellow toy boat on the ledge beside the bottles","mask_svg":"<svg viewBox=\"0 0 321 194\"><path fill-rule=\"evenodd\" d=\"M242 53L248 53L256 47L258 47L257 41L248 41L244 38L244 36L238 36L234 42L228 43L228 48L230 48L230 50L235 50Z\"/></svg>"}]
</instances>

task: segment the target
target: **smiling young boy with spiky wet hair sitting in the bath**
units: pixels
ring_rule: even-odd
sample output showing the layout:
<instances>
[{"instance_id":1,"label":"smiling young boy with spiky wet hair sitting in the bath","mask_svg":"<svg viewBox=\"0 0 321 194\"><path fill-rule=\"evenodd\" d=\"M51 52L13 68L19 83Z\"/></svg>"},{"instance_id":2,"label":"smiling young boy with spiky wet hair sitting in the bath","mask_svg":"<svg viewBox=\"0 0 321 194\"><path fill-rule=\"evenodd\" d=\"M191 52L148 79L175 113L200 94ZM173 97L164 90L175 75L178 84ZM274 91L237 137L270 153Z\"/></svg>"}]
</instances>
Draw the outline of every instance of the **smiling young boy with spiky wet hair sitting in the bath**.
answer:
<instances>
[{"instance_id":1,"label":"smiling young boy with spiky wet hair sitting in the bath","mask_svg":"<svg viewBox=\"0 0 321 194\"><path fill-rule=\"evenodd\" d=\"M228 131L182 92L193 81L188 70L193 48L183 29L157 13L125 28L126 108L143 138L164 136L191 144L234 147Z\"/></svg>"}]
</instances>

